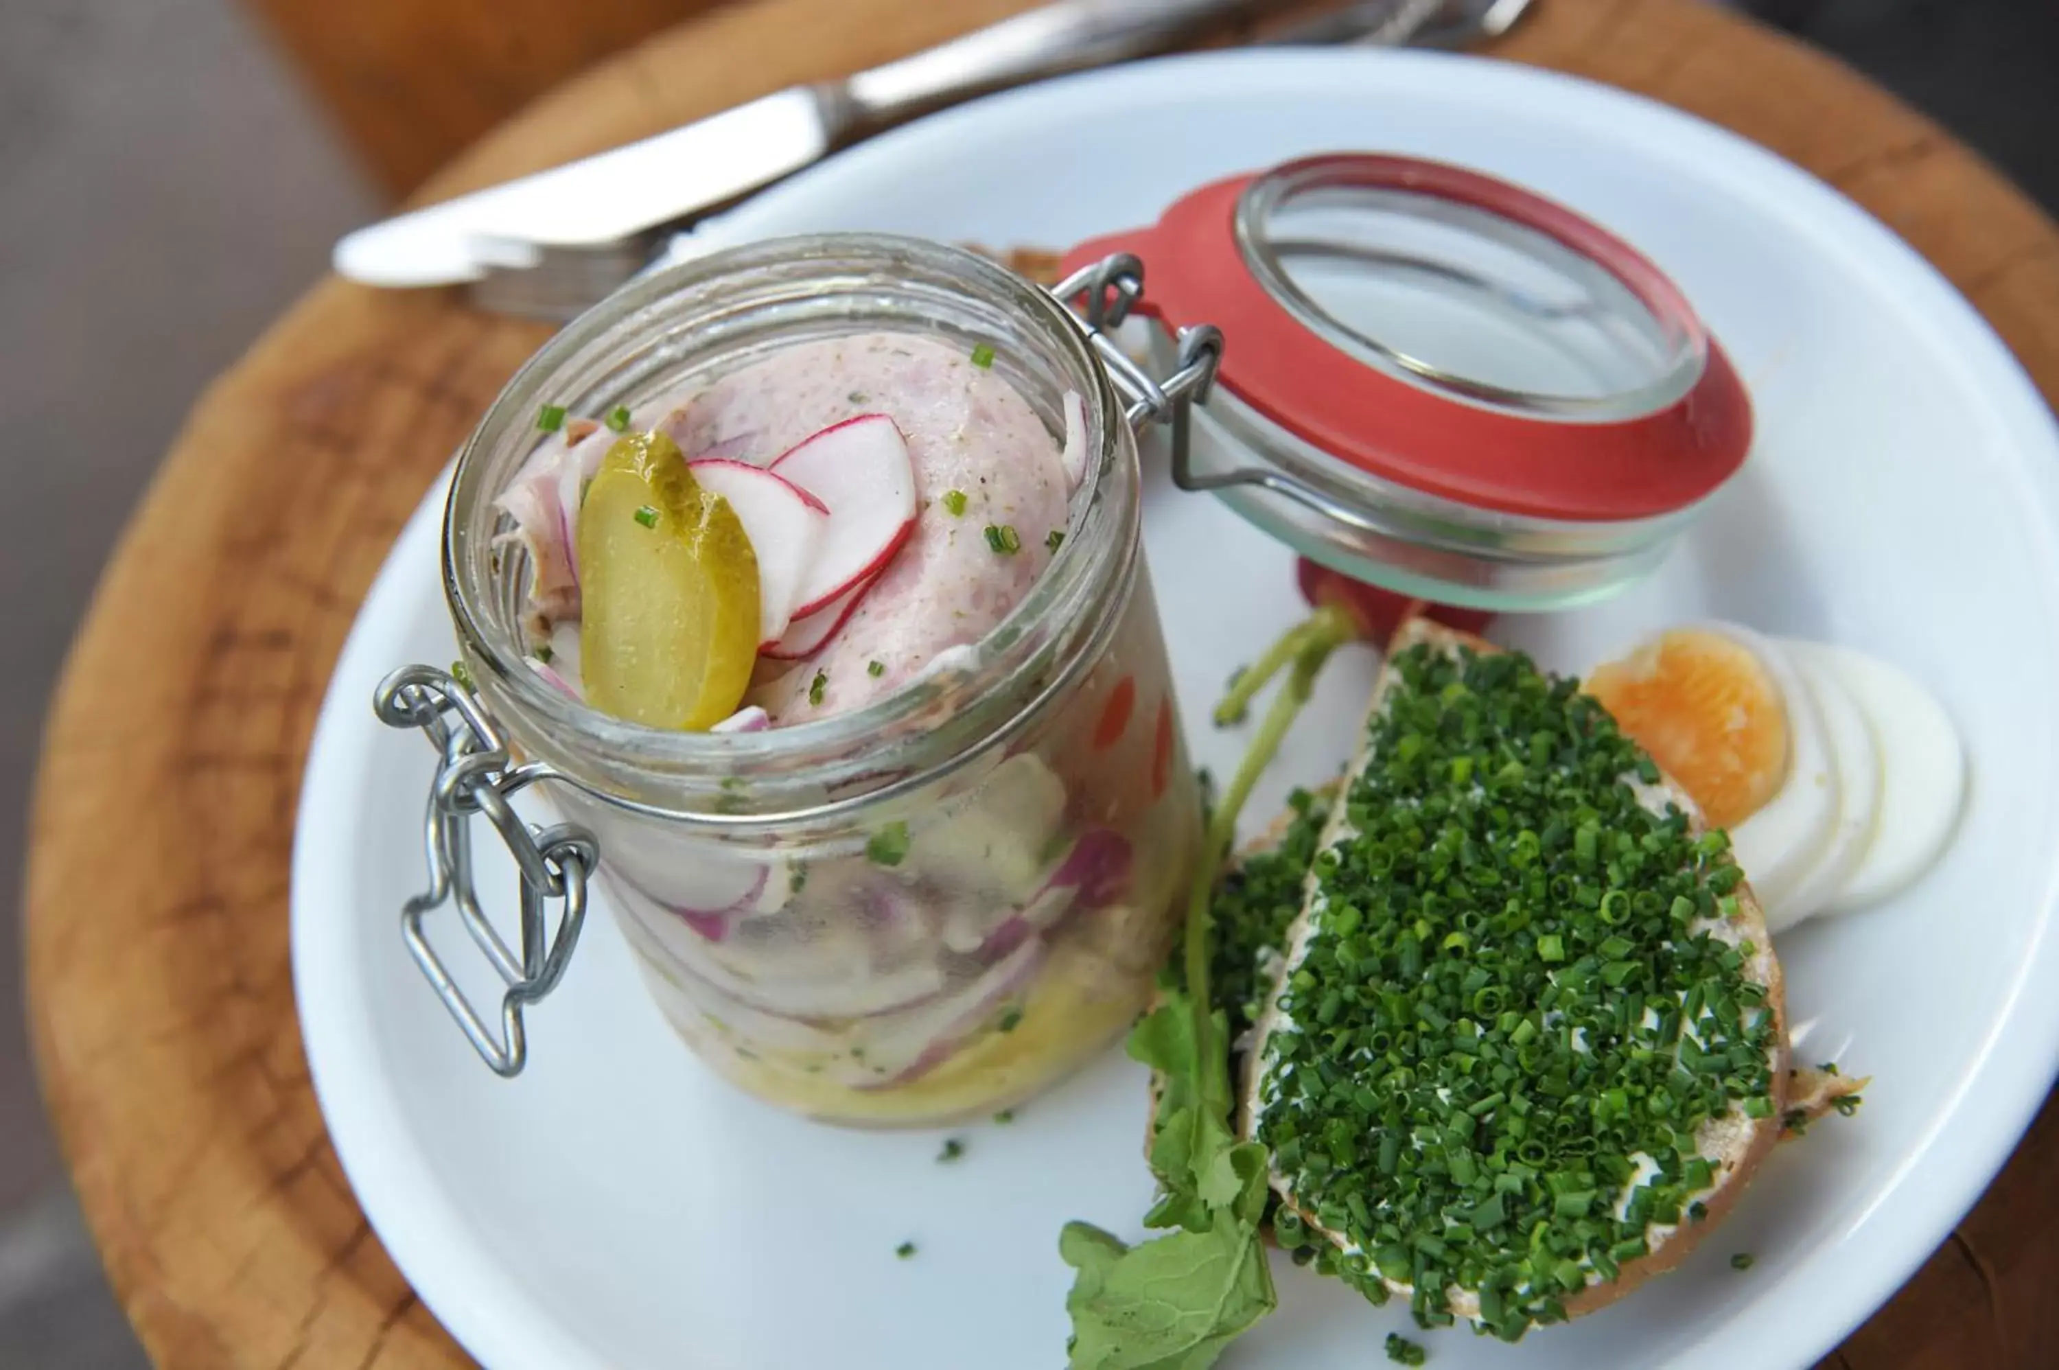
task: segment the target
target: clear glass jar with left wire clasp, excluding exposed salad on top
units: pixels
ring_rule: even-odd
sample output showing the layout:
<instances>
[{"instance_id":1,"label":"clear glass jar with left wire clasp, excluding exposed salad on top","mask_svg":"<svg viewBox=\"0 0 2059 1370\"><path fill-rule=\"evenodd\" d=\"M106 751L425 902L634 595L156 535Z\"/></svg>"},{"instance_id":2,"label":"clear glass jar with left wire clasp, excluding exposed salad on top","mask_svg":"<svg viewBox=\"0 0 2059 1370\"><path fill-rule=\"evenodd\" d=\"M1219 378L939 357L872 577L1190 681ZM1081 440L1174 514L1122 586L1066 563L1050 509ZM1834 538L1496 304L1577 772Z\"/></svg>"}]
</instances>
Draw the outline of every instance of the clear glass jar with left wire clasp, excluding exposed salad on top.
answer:
<instances>
[{"instance_id":1,"label":"clear glass jar with left wire clasp, excluding exposed salad on top","mask_svg":"<svg viewBox=\"0 0 2059 1370\"><path fill-rule=\"evenodd\" d=\"M857 711L756 733L634 725L525 663L527 556L494 501L537 443L539 406L636 408L877 332L990 348L1052 435L1067 396L1081 400L1087 474L1069 527L999 628ZM443 573L469 692L445 682L432 698L432 674L410 667L381 711L445 721L447 828L472 783L451 779L451 758L498 748L498 770L474 764L498 789L469 803L519 861L523 832L542 847L525 863L523 950L496 956L511 985L498 1059L410 913L416 958L502 1073L521 1069L521 1005L577 937L574 906L546 954L544 902L583 892L585 869L566 867L595 845L591 869L671 1026L737 1086L817 1119L992 1112L1083 1063L1149 999L1198 857L1198 793L1139 544L1135 435L1089 332L1052 295L881 235L768 241L632 282L552 338L463 445ZM585 849L572 828L496 814L496 795L537 779L591 834ZM437 843L455 841L437 814L432 874Z\"/></svg>"}]
</instances>

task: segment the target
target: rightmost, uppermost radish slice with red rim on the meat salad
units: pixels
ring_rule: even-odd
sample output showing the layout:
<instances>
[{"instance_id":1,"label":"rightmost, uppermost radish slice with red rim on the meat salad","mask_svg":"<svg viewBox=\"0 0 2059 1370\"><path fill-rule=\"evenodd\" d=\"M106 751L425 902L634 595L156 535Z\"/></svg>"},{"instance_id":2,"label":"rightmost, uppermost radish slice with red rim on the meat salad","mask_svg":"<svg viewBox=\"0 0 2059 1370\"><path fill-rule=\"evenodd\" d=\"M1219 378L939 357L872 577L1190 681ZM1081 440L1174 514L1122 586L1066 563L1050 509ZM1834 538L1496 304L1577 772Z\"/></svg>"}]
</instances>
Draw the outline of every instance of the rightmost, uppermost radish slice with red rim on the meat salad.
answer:
<instances>
[{"instance_id":1,"label":"rightmost, uppermost radish slice with red rim on the meat salad","mask_svg":"<svg viewBox=\"0 0 2059 1370\"><path fill-rule=\"evenodd\" d=\"M861 414L824 429L772 470L830 507L793 608L795 620L879 575L914 532L914 461L885 414Z\"/></svg>"}]
</instances>

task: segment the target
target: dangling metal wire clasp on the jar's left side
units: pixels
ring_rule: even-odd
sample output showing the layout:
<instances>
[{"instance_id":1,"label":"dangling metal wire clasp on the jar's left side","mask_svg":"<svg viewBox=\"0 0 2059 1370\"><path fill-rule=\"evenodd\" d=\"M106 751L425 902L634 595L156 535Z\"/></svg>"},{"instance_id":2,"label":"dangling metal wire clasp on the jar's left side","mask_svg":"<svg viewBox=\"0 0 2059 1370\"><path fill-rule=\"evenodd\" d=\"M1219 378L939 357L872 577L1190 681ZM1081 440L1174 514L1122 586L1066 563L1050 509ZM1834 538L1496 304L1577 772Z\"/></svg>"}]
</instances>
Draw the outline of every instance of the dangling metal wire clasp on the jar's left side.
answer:
<instances>
[{"instance_id":1,"label":"dangling metal wire clasp on the jar's left side","mask_svg":"<svg viewBox=\"0 0 2059 1370\"><path fill-rule=\"evenodd\" d=\"M556 989L579 946L587 919L587 878L599 863L599 843L577 824L537 828L523 822L509 799L554 770L517 766L480 700L449 672L404 665L379 682L373 709L387 727L418 727L437 748L437 775L428 791L422 847L428 888L402 906L402 935L414 964L434 987L465 1040L496 1075L519 1075L529 1057L523 1009ZM472 869L472 818L484 814L521 874L521 935L511 950L480 909ZM564 900L556 927L550 900ZM500 995L500 1030L474 1007L465 991L422 933L424 915L457 904L459 921L507 987Z\"/></svg>"}]
</instances>

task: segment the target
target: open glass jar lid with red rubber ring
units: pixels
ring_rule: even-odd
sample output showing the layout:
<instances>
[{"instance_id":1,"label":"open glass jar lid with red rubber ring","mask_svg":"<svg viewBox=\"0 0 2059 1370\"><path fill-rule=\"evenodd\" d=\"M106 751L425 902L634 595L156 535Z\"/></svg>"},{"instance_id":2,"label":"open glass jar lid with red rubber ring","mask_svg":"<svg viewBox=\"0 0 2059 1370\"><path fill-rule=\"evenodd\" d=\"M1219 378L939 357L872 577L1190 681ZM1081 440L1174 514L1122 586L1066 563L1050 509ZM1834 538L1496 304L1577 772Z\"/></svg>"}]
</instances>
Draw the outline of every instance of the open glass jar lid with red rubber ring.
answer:
<instances>
[{"instance_id":1,"label":"open glass jar lid with red rubber ring","mask_svg":"<svg viewBox=\"0 0 2059 1370\"><path fill-rule=\"evenodd\" d=\"M1678 286L1478 171L1314 157L1202 185L1069 264L1112 251L1149 266L1139 313L1223 332L1205 414L1231 466L1258 466L1182 484L1361 579L1491 608L1594 597L1649 571L1750 447L1744 383Z\"/></svg>"}]
</instances>

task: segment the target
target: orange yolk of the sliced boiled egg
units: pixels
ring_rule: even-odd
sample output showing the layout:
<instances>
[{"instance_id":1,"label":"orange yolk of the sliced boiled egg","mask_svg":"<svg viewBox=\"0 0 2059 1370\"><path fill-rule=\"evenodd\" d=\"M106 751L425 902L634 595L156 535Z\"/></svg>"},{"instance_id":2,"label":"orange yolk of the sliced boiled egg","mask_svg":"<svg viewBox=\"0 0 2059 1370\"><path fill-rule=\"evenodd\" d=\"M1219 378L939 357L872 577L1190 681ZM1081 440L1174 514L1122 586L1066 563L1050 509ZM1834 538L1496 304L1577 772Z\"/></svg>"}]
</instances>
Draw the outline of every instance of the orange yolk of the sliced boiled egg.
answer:
<instances>
[{"instance_id":1,"label":"orange yolk of the sliced boiled egg","mask_svg":"<svg viewBox=\"0 0 2059 1370\"><path fill-rule=\"evenodd\" d=\"M1719 632L1666 632L1596 667L1587 692L1711 826L1750 818L1787 779L1781 688L1750 647Z\"/></svg>"}]
</instances>

